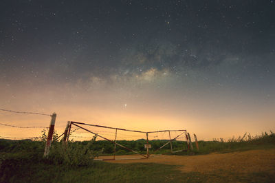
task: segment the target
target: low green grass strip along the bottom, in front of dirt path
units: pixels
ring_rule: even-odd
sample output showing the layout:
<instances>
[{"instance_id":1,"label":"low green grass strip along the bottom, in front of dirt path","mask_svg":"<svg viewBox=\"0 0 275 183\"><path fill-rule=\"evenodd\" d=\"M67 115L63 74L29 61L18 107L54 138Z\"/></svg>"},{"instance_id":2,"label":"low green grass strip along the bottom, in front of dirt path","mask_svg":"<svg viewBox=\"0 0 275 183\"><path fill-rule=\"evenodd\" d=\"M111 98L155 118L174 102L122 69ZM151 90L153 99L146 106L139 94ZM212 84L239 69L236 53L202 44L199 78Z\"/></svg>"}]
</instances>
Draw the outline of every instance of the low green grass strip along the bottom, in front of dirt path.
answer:
<instances>
[{"instance_id":1,"label":"low green grass strip along the bottom, in front of dirt path","mask_svg":"<svg viewBox=\"0 0 275 183\"><path fill-rule=\"evenodd\" d=\"M95 162L91 166L55 166L45 162L9 162L12 169L1 169L1 182L274 182L267 172L241 174L233 172L182 173L166 164L110 164Z\"/></svg>"}]
</instances>

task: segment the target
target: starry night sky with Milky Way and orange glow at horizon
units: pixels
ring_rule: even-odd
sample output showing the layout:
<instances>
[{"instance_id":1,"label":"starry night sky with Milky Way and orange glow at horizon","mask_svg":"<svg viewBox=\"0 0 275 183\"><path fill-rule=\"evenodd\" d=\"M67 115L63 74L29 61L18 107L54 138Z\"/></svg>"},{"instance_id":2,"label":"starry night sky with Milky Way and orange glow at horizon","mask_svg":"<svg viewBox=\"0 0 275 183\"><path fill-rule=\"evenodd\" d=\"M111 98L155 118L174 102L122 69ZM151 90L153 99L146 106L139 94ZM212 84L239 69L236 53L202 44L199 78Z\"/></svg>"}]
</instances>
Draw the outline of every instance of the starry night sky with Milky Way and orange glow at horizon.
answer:
<instances>
[{"instance_id":1,"label":"starry night sky with Milky Way and orange glow at horizon","mask_svg":"<svg viewBox=\"0 0 275 183\"><path fill-rule=\"evenodd\" d=\"M200 139L275 130L275 2L1 1L0 94L3 109L55 111L60 132L67 120Z\"/></svg>"}]
</instances>

